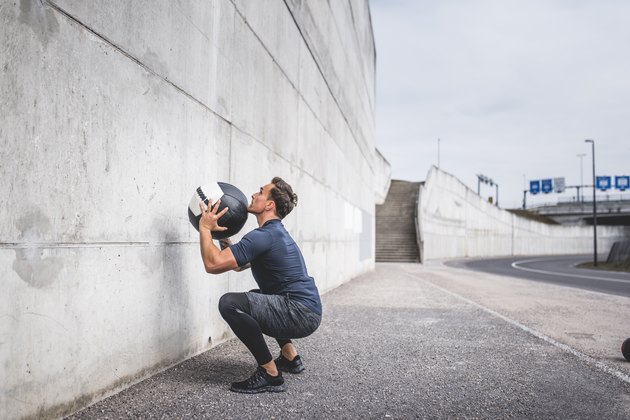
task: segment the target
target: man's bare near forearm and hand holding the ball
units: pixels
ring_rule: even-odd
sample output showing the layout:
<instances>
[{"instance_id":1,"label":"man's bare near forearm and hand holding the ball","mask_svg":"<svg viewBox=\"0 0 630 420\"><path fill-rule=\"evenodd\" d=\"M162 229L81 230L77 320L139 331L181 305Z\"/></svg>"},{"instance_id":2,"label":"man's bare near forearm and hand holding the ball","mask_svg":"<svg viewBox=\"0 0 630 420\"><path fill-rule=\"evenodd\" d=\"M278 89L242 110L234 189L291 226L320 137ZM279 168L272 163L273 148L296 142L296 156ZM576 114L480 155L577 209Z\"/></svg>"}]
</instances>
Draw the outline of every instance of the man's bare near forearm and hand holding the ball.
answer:
<instances>
[{"instance_id":1,"label":"man's bare near forearm and hand holding the ball","mask_svg":"<svg viewBox=\"0 0 630 420\"><path fill-rule=\"evenodd\" d=\"M211 231L220 232L226 230L226 228L221 227L218 224L219 217L223 216L228 210L225 208L217 214L220 201L221 200L217 200L212 209L206 209L203 204L199 203L199 207L202 211L201 220L199 220L199 245L201 247L201 259L203 260L206 272L211 274L224 273L238 268L236 258L234 258L234 254L232 254L232 250L230 248L220 250L212 241Z\"/></svg>"}]
</instances>

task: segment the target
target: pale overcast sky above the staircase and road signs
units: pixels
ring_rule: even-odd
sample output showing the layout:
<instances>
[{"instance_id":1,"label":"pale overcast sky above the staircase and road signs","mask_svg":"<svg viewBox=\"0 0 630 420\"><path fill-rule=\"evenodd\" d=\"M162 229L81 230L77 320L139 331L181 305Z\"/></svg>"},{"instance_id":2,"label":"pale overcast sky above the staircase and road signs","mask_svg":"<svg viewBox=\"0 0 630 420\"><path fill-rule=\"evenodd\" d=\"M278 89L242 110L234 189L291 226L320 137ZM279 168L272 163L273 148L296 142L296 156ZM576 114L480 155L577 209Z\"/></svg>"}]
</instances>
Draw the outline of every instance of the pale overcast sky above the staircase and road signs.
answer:
<instances>
[{"instance_id":1,"label":"pale overcast sky above the staircase and road signs","mask_svg":"<svg viewBox=\"0 0 630 420\"><path fill-rule=\"evenodd\" d=\"M439 145L440 169L474 191L485 175L500 207L521 207L530 180L592 185L585 139L597 175L630 175L630 1L370 0L370 11L376 147L393 179L423 181Z\"/></svg>"}]
</instances>

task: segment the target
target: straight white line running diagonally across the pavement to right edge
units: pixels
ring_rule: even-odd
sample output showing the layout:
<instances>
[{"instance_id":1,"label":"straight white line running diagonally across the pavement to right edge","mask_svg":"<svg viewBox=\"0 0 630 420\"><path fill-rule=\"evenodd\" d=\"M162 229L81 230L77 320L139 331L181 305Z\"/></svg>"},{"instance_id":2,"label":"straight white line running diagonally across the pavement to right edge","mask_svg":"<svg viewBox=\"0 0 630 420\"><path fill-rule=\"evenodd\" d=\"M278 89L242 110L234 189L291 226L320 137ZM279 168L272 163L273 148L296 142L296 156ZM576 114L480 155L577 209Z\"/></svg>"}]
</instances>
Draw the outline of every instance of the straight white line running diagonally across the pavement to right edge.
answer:
<instances>
[{"instance_id":1,"label":"straight white line running diagonally across the pavement to right edge","mask_svg":"<svg viewBox=\"0 0 630 420\"><path fill-rule=\"evenodd\" d=\"M407 274L412 276L409 273L407 273ZM412 276L412 277L414 279L418 279L417 277L414 277L414 276ZM443 287L440 287L440 286L438 286L436 284L433 284L430 281L426 281L425 280L425 282L427 284L429 284L430 286L433 286L436 289L441 290L442 292L444 292L446 294L449 294L449 295L451 295L451 296L453 296L453 297L455 297L455 298L457 298L459 300L462 300L462 301L464 301L464 302L466 302L466 303L468 303L470 305L476 306L477 308L479 308L479 309L481 309L481 310L483 310L483 311L485 311L485 312L487 312L487 313L489 313L491 315L494 315L494 316L496 316L498 318L501 318L502 320L504 320L508 324L511 324L511 325L513 325L513 326L515 326L515 327L525 331L526 333L529 333L529 334L533 335L534 337L540 338L541 340L551 344L554 347L559 348L560 350L562 350L564 352L572 354L573 356L577 357L582 362L584 362L584 363L586 363L588 365L591 365L591 366L593 366L593 367L595 367L595 368L597 368L597 369L599 369L599 370L601 370L601 371L603 371L603 372L605 372L605 373L607 373L609 375L612 375L612 376L614 376L615 378L619 379L622 382L630 384L630 375L628 375L628 374L626 374L626 373L624 373L624 372L622 372L622 371L620 371L618 369L615 369L614 367L608 366L607 364L605 364L603 362L600 362L599 360L595 359L594 357L591 357L591 356L589 356L587 354L584 354L581 351L574 349L573 347L567 346L566 344L563 344L563 343L561 343L559 341L556 341L553 338L551 338L551 337L549 337L549 336L547 336L547 335L545 335L545 334L543 334L541 332L533 330L533 329L531 329L531 328L521 324L518 321L515 321L515 320L513 320L511 318L508 318L507 316L502 315L502 314L498 313L497 311L494 311L494 310L492 310L490 308L487 308L487 307L485 307L485 306L483 306L483 305L481 305L481 304L479 304L477 302L474 302L474 301L472 301L470 299L467 299L467 298L465 298L463 296L460 296L457 293L454 293L454 292L451 292L450 290L444 289Z\"/></svg>"}]
</instances>

